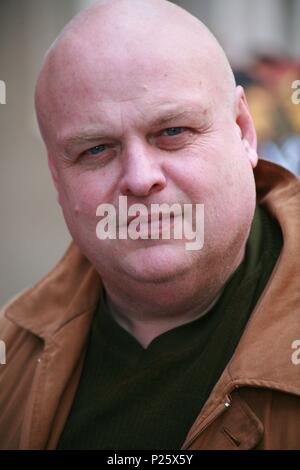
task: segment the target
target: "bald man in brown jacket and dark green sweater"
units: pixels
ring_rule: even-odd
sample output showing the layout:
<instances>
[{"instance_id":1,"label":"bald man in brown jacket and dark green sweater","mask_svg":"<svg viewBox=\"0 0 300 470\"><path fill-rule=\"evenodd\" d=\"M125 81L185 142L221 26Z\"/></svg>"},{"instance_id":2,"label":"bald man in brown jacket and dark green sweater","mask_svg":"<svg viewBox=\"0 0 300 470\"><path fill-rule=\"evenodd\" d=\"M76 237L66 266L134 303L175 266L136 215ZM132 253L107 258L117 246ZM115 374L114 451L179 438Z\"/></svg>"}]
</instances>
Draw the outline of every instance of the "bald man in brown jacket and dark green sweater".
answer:
<instances>
[{"instance_id":1,"label":"bald man in brown jacket and dark green sweater","mask_svg":"<svg viewBox=\"0 0 300 470\"><path fill-rule=\"evenodd\" d=\"M97 2L36 109L73 243L2 312L0 447L300 449L300 183L258 163L216 39L164 0ZM203 220L164 238L163 204ZM99 236L111 209L139 236Z\"/></svg>"}]
</instances>

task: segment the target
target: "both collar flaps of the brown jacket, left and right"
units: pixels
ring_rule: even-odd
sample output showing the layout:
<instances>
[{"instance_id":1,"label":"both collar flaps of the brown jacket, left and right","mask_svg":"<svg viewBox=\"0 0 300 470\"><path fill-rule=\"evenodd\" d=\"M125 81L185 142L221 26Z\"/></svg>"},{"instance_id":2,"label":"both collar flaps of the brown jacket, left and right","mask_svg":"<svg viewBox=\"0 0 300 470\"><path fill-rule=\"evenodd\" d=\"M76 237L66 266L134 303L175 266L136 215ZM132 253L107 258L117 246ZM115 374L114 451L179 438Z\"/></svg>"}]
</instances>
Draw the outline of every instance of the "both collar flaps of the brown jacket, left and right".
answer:
<instances>
[{"instance_id":1,"label":"both collar flaps of the brown jacket, left and right","mask_svg":"<svg viewBox=\"0 0 300 470\"><path fill-rule=\"evenodd\" d=\"M257 198L277 219L283 249L240 343L213 395L235 386L270 387L300 395L299 367L292 343L300 339L300 182L291 173L260 161ZM43 339L78 315L92 311L102 284L96 270L72 243L62 260L6 308L6 317ZM211 401L210 401L211 403Z\"/></svg>"}]
</instances>

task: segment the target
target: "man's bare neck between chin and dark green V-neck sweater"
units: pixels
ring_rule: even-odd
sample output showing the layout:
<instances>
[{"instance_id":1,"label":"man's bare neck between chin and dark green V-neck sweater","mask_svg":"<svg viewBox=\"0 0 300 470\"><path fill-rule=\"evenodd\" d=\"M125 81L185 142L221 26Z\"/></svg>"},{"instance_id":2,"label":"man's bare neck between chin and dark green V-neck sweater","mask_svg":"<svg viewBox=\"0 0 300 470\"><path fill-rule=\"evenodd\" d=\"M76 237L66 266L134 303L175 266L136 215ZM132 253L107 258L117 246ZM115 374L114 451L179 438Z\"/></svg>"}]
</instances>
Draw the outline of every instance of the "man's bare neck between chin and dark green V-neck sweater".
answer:
<instances>
[{"instance_id":1,"label":"man's bare neck between chin and dark green V-neck sweater","mask_svg":"<svg viewBox=\"0 0 300 470\"><path fill-rule=\"evenodd\" d=\"M178 279L142 283L133 279L103 279L108 307L115 321L147 347L165 331L192 322L211 310L225 284L244 258L245 246L229 267L210 272L190 269Z\"/></svg>"}]
</instances>

